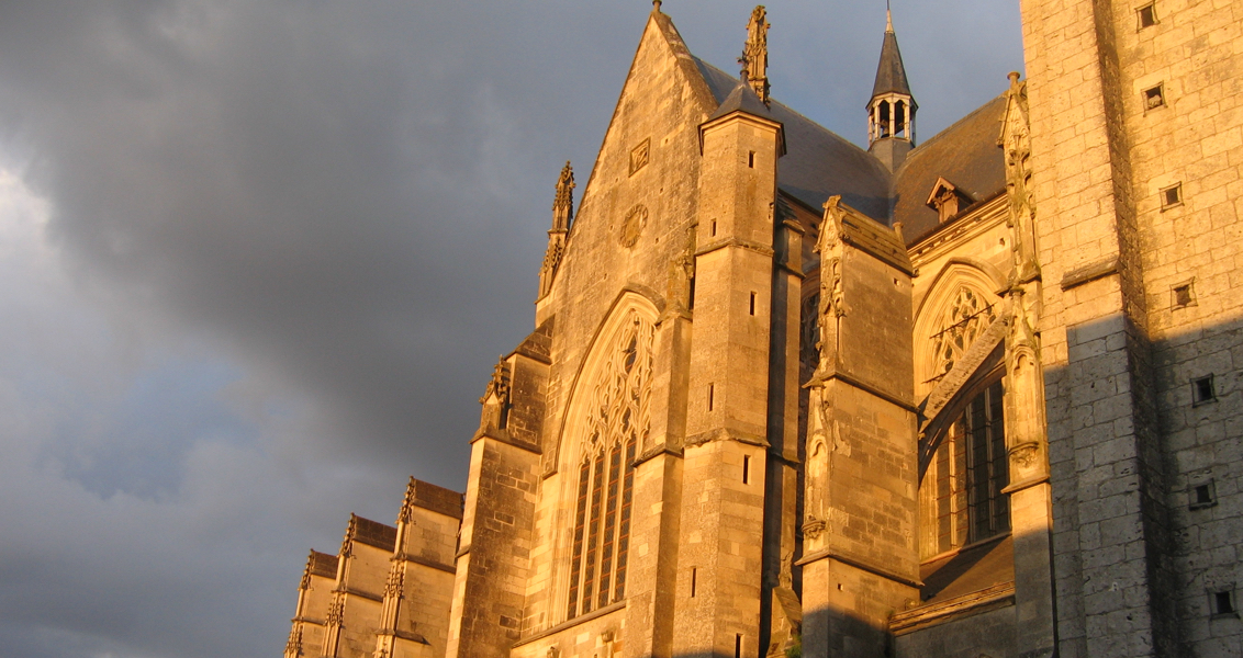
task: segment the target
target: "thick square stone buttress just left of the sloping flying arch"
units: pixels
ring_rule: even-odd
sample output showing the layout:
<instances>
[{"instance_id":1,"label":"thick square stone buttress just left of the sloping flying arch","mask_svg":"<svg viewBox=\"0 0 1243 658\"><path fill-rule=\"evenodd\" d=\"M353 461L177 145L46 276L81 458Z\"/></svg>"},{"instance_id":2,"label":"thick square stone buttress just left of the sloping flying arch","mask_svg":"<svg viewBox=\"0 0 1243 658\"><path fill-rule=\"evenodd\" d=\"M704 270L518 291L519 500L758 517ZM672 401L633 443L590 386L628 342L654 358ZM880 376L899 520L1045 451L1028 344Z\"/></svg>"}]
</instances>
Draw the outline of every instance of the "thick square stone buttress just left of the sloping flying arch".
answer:
<instances>
[{"instance_id":1,"label":"thick square stone buttress just left of the sloping flying arch","mask_svg":"<svg viewBox=\"0 0 1243 658\"><path fill-rule=\"evenodd\" d=\"M880 658L891 652L889 617L920 587L911 269L896 231L838 197L824 206L815 251L803 652Z\"/></svg>"}]
</instances>

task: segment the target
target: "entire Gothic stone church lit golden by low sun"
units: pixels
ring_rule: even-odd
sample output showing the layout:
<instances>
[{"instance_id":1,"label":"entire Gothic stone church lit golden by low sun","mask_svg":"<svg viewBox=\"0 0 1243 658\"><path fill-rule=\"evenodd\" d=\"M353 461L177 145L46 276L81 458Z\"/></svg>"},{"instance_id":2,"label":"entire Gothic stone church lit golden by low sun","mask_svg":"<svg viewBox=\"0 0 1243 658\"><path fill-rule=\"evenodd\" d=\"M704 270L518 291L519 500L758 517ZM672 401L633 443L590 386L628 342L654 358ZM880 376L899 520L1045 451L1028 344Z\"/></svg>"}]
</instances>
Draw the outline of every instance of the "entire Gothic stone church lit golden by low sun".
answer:
<instances>
[{"instance_id":1,"label":"entire Gothic stone church lit golden by low sun","mask_svg":"<svg viewBox=\"0 0 1243 658\"><path fill-rule=\"evenodd\" d=\"M865 150L655 2L465 495L312 552L286 658L1238 656L1243 7L1022 16L926 143L890 22Z\"/></svg>"}]
</instances>

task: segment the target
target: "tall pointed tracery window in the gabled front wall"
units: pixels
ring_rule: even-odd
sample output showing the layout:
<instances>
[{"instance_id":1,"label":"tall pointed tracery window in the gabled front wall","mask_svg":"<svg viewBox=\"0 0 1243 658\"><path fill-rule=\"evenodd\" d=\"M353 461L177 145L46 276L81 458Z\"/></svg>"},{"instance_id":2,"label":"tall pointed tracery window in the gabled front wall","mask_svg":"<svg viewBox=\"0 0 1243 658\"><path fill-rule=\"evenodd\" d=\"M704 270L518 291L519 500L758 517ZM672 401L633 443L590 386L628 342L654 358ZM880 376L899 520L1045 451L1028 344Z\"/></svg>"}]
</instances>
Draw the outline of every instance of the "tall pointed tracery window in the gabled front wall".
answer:
<instances>
[{"instance_id":1,"label":"tall pointed tracery window in the gabled front wall","mask_svg":"<svg viewBox=\"0 0 1243 658\"><path fill-rule=\"evenodd\" d=\"M651 425L654 333L631 310L595 381L576 473L567 618L625 597L634 461Z\"/></svg>"}]
</instances>

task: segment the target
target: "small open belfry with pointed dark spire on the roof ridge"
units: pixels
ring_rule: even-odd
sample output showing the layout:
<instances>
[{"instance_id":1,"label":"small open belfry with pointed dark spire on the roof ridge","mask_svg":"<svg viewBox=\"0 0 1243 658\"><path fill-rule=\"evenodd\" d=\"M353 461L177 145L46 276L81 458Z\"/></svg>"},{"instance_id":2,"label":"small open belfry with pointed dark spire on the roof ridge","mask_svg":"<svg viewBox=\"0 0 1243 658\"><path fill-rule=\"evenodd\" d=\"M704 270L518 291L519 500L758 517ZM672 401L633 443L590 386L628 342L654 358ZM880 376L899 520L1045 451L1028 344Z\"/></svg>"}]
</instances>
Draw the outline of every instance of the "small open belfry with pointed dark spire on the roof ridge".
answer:
<instances>
[{"instance_id":1,"label":"small open belfry with pointed dark spire on the roof ridge","mask_svg":"<svg viewBox=\"0 0 1243 658\"><path fill-rule=\"evenodd\" d=\"M894 34L894 15L885 12L885 41L880 46L876 83L868 102L868 150L890 171L901 166L915 148L915 112L919 104L906 82L902 53Z\"/></svg>"}]
</instances>

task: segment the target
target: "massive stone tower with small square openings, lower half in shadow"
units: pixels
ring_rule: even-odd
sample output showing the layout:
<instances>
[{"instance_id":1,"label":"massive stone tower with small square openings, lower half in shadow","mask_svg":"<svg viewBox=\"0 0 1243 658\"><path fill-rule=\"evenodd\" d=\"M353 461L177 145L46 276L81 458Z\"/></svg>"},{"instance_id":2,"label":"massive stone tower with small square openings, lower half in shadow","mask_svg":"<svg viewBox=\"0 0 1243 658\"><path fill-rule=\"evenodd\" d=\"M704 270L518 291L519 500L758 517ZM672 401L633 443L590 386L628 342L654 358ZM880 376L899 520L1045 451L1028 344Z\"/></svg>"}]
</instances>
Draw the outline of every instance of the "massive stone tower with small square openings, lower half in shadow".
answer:
<instances>
[{"instance_id":1,"label":"massive stone tower with small square openings, lower half in shadow","mask_svg":"<svg viewBox=\"0 0 1243 658\"><path fill-rule=\"evenodd\" d=\"M1223 92L1243 78L1243 10L1024 0L1022 16L1060 656L1227 656L1243 112Z\"/></svg>"}]
</instances>

